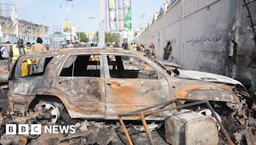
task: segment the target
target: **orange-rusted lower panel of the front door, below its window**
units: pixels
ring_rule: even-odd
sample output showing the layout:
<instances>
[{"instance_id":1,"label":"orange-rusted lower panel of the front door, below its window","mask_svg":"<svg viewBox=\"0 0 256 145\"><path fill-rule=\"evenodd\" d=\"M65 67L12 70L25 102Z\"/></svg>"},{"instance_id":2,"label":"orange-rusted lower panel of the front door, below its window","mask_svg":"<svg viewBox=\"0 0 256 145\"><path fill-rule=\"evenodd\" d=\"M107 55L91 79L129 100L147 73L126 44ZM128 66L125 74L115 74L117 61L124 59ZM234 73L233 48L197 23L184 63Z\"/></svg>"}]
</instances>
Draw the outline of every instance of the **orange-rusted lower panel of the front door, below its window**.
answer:
<instances>
[{"instance_id":1,"label":"orange-rusted lower panel of the front door, below its window","mask_svg":"<svg viewBox=\"0 0 256 145\"><path fill-rule=\"evenodd\" d=\"M106 80L106 116L142 109L169 98L166 81L159 79Z\"/></svg>"}]
</instances>

